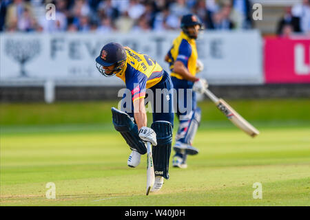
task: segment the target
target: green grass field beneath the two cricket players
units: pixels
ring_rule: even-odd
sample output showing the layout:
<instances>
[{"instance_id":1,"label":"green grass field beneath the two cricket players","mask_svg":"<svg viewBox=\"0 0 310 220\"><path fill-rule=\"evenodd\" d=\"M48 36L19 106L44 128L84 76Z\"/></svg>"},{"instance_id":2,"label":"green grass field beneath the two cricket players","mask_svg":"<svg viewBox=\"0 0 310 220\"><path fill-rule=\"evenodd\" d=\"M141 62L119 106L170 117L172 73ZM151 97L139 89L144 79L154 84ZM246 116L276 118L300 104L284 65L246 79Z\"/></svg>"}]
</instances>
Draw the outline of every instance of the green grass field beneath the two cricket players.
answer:
<instances>
[{"instance_id":1,"label":"green grass field beneath the two cricket players","mask_svg":"<svg viewBox=\"0 0 310 220\"><path fill-rule=\"evenodd\" d=\"M230 101L260 135L200 103L200 153L145 196L146 160L112 128L115 102L1 104L1 206L310 206L309 100ZM56 199L46 199L48 182ZM253 184L262 199L253 199Z\"/></svg>"}]
</instances>

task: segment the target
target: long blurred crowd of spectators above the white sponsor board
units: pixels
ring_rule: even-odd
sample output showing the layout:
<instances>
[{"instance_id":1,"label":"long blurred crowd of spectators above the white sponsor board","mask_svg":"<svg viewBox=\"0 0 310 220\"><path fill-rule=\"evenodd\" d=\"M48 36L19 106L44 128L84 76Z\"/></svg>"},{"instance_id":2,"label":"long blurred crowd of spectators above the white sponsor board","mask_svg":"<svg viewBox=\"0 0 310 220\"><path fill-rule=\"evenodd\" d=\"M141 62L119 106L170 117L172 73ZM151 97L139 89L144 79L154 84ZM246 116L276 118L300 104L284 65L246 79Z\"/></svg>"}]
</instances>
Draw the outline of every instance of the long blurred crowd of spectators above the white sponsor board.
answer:
<instances>
[{"instance_id":1,"label":"long blurred crowd of spectators above the white sponsor board","mask_svg":"<svg viewBox=\"0 0 310 220\"><path fill-rule=\"evenodd\" d=\"M56 6L51 18L52 3ZM249 29L249 0L2 0L0 31L138 32L178 30L184 14L195 13L205 29ZM50 10L49 10L50 9Z\"/></svg>"}]
</instances>

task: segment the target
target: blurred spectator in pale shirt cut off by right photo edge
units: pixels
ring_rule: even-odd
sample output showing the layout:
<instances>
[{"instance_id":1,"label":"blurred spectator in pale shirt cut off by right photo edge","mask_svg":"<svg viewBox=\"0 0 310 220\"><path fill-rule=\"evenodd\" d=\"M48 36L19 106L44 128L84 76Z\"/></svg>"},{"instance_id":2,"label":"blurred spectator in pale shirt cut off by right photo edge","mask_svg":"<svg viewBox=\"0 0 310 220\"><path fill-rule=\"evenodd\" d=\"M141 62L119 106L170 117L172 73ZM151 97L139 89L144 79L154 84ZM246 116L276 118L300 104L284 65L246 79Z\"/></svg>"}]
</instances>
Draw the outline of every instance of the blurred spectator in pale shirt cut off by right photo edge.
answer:
<instances>
[{"instance_id":1,"label":"blurred spectator in pale shirt cut off by right photo edge","mask_svg":"<svg viewBox=\"0 0 310 220\"><path fill-rule=\"evenodd\" d=\"M300 18L300 29L303 33L310 33L310 0L302 0L292 8L293 17Z\"/></svg>"}]
</instances>

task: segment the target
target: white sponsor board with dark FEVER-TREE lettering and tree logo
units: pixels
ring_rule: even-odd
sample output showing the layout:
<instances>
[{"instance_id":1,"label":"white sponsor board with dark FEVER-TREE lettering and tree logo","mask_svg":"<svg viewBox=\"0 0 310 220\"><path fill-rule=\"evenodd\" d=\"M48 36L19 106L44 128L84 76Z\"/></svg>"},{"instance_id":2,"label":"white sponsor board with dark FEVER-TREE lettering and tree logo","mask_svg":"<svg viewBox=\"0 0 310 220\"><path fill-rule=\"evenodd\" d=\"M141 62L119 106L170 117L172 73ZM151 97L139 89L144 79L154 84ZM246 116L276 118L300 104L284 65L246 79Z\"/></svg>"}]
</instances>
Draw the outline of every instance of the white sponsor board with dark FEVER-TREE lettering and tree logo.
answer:
<instances>
[{"instance_id":1,"label":"white sponsor board with dark FEVER-TREE lettering and tree logo","mask_svg":"<svg viewBox=\"0 0 310 220\"><path fill-rule=\"evenodd\" d=\"M169 72L163 60L178 34L1 34L1 85L47 80L56 85L123 85L116 77L101 76L95 66L103 45L112 41L148 54ZM204 33L197 41L205 65L200 77L217 85L262 83L261 42L257 31Z\"/></svg>"}]
</instances>

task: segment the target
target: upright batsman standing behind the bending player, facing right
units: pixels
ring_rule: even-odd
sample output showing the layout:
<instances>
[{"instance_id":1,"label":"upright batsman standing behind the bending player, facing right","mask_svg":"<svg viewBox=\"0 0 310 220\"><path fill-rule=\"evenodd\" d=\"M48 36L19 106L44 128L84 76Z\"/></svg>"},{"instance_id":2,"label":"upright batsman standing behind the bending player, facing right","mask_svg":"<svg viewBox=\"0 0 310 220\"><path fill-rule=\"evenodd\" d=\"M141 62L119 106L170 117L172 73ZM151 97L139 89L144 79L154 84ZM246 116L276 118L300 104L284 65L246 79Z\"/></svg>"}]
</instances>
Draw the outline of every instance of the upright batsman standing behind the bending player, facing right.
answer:
<instances>
[{"instance_id":1,"label":"upright batsman standing behind the bending player, facing right","mask_svg":"<svg viewBox=\"0 0 310 220\"><path fill-rule=\"evenodd\" d=\"M203 70L196 49L196 39L199 31L203 30L203 24L196 15L187 14L182 17L180 28L182 31L174 39L165 61L169 63L172 83L176 89L174 97L178 102L176 115L180 122L174 145L176 154L173 157L173 166L187 168L187 155L198 153L198 149L192 146L201 118L200 108L196 106L195 91L203 94L203 90L207 88L207 81L196 77L196 73ZM188 93L192 94L189 99L187 99ZM180 107L190 111L182 112Z\"/></svg>"}]
</instances>

